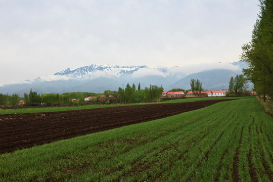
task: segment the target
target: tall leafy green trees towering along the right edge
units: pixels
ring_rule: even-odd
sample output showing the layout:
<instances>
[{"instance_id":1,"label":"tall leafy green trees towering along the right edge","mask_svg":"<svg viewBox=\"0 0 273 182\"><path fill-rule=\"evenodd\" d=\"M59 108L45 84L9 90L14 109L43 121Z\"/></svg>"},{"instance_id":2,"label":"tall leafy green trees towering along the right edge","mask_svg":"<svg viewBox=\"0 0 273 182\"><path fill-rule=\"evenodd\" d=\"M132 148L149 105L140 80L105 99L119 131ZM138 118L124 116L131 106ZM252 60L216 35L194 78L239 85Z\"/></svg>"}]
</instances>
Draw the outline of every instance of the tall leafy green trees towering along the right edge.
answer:
<instances>
[{"instance_id":1,"label":"tall leafy green trees towering along the right edge","mask_svg":"<svg viewBox=\"0 0 273 182\"><path fill-rule=\"evenodd\" d=\"M260 0L260 12L252 40L242 46L242 61L249 67L244 75L252 81L256 92L273 100L273 1Z\"/></svg>"}]
</instances>

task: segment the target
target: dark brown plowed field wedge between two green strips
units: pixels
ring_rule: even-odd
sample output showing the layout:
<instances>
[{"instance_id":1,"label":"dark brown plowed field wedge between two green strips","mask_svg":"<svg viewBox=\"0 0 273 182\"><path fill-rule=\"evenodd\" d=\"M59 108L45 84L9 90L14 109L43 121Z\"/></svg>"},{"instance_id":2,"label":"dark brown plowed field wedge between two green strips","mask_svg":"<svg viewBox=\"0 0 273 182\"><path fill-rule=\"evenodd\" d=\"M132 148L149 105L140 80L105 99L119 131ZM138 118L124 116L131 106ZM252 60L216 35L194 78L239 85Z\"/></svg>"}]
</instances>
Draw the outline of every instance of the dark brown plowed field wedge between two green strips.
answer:
<instances>
[{"instance_id":1,"label":"dark brown plowed field wedge between two green strips","mask_svg":"<svg viewBox=\"0 0 273 182\"><path fill-rule=\"evenodd\" d=\"M0 115L0 154L151 121L229 100Z\"/></svg>"}]
</instances>

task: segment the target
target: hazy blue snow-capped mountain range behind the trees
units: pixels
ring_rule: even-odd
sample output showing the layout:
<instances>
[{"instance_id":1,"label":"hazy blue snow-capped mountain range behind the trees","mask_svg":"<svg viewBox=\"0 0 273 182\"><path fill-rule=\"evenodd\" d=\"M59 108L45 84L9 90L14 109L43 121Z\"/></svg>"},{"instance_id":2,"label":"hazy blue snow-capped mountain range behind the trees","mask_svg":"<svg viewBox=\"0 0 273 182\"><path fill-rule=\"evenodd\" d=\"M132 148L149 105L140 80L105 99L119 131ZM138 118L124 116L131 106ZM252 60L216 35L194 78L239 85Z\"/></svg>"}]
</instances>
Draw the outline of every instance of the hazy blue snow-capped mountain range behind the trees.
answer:
<instances>
[{"instance_id":1,"label":"hazy blue snow-capped mountain range behind the trees","mask_svg":"<svg viewBox=\"0 0 273 182\"><path fill-rule=\"evenodd\" d=\"M242 66L241 62L231 63ZM178 70L178 71L177 71ZM118 66L118 65L89 65L76 69L67 68L54 75L25 80L20 83L0 86L0 93L19 94L29 93L30 88L38 94L93 92L103 93L104 90L118 90L141 84L141 88L150 84L162 85L167 91L171 88L190 89L190 80L199 79L204 89L226 89L229 87L231 76L240 74L242 69L208 69L192 74L179 71L179 67L150 68L147 66Z\"/></svg>"}]
</instances>

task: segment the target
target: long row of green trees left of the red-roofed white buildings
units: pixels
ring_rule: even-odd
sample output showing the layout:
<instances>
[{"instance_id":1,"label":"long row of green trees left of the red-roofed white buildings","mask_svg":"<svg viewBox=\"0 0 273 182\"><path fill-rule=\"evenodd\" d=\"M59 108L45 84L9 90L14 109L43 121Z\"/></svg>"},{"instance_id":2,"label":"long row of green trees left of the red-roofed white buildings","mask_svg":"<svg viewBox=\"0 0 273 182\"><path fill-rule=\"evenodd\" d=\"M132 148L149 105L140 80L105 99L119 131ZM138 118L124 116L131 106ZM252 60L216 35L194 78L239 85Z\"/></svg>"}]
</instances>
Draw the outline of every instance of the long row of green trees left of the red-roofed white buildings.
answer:
<instances>
[{"instance_id":1,"label":"long row of green trees left of the red-roofed white buildings","mask_svg":"<svg viewBox=\"0 0 273 182\"><path fill-rule=\"evenodd\" d=\"M86 105L86 104L110 104L110 103L141 103L141 102L159 102L161 100L162 86L150 85L141 89L140 83L138 88L127 83L125 89L119 87L118 90L105 90L103 94L88 92L73 92L64 94L37 94L30 89L30 92L24 93L24 97L20 98L18 94L0 94L0 106L16 106L20 100L25 102L25 106L67 106L67 105ZM110 97L111 96L111 97ZM88 102L84 98L92 97ZM76 101L73 101L76 99Z\"/></svg>"}]
</instances>

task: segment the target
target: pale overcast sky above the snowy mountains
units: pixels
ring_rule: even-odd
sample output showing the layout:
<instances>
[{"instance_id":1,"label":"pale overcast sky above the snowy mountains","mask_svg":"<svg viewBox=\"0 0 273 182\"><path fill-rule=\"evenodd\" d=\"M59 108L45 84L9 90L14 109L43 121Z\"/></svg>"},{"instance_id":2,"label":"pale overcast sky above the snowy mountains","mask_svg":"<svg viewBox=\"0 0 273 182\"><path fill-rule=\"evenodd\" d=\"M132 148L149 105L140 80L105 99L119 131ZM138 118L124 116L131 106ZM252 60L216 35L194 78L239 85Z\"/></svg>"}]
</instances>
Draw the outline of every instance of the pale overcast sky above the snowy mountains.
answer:
<instances>
[{"instance_id":1,"label":"pale overcast sky above the snowy mountains","mask_svg":"<svg viewBox=\"0 0 273 182\"><path fill-rule=\"evenodd\" d=\"M239 61L258 4L0 0L0 85L91 64L204 68Z\"/></svg>"}]
</instances>

